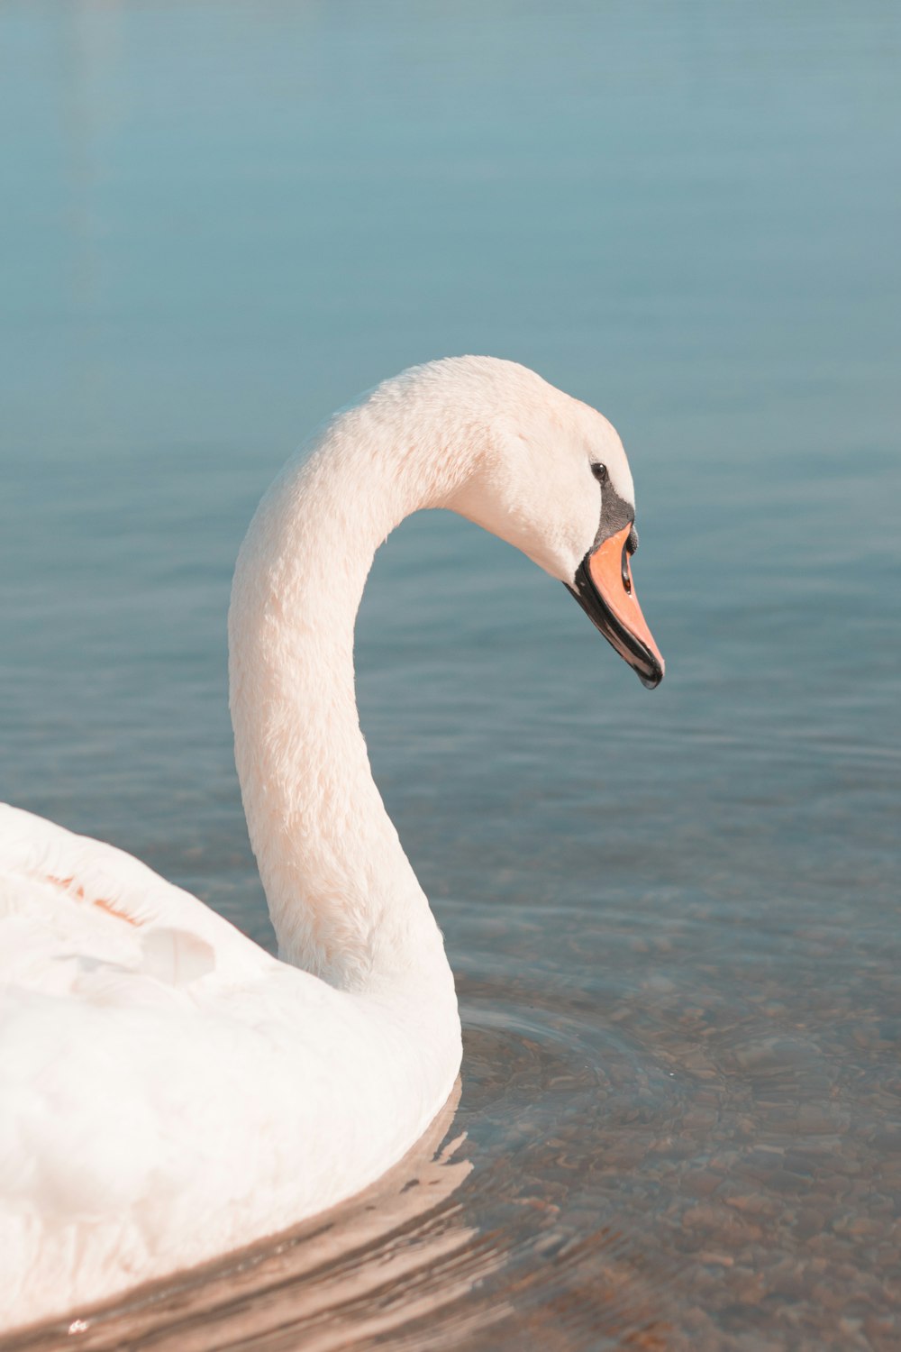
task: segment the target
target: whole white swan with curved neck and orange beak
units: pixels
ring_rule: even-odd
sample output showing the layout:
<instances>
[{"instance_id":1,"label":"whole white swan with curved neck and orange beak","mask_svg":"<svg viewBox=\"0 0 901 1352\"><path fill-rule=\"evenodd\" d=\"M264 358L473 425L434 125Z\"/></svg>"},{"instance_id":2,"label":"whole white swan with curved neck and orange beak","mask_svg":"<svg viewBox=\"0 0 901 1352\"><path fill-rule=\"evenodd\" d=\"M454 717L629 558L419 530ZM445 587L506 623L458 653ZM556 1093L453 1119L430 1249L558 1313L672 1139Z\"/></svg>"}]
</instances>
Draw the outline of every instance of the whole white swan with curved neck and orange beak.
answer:
<instances>
[{"instance_id":1,"label":"whole white swan with curved neck and orange beak","mask_svg":"<svg viewBox=\"0 0 901 1352\"><path fill-rule=\"evenodd\" d=\"M465 357L320 430L254 516L228 617L238 773L281 961L111 845L0 810L4 1328L331 1206L450 1094L454 979L354 699L373 553L420 507L519 546L646 684L662 679L632 594L632 479L594 410Z\"/></svg>"}]
</instances>

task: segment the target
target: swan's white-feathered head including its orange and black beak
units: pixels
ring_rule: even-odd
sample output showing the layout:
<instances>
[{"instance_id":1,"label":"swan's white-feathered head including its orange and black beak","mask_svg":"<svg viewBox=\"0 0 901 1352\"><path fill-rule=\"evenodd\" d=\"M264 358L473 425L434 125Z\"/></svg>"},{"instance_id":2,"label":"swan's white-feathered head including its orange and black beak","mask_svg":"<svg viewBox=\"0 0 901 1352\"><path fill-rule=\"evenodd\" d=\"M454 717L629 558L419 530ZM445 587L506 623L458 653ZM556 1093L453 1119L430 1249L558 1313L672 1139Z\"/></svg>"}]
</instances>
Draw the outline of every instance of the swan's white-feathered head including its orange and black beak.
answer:
<instances>
[{"instance_id":1,"label":"swan's white-feathered head including its orange and black beak","mask_svg":"<svg viewBox=\"0 0 901 1352\"><path fill-rule=\"evenodd\" d=\"M489 373L500 397L485 450L448 506L559 579L652 690L665 664L635 595L635 488L616 430L524 366Z\"/></svg>"}]
</instances>

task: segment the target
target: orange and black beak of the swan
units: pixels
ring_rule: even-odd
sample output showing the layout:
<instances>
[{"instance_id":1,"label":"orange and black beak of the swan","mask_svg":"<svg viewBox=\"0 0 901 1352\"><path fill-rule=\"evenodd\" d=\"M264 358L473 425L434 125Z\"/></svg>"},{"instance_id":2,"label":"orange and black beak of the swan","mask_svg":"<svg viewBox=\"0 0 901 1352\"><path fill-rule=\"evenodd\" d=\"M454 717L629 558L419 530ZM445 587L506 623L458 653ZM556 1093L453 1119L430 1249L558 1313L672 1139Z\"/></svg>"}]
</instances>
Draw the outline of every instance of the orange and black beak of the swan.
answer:
<instances>
[{"instance_id":1,"label":"orange and black beak of the swan","mask_svg":"<svg viewBox=\"0 0 901 1352\"><path fill-rule=\"evenodd\" d=\"M632 523L585 556L569 589L596 629L638 672L648 690L663 680L665 662L632 585L628 542Z\"/></svg>"}]
</instances>

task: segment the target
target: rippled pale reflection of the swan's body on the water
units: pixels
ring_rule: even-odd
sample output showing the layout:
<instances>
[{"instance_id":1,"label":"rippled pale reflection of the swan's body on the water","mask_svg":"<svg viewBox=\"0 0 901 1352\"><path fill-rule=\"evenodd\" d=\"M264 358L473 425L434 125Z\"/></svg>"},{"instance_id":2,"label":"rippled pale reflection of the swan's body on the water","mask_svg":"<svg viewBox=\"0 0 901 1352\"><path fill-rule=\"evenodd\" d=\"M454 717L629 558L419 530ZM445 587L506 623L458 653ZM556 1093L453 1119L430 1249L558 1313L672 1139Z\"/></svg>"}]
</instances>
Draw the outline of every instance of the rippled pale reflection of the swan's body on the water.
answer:
<instances>
[{"instance_id":1,"label":"rippled pale reflection of the swan's body on the water","mask_svg":"<svg viewBox=\"0 0 901 1352\"><path fill-rule=\"evenodd\" d=\"M49 1352L65 1340L80 1352L145 1343L190 1352L220 1343L273 1347L278 1333L285 1347L326 1352L401 1322L434 1321L475 1279L459 1261L475 1233L454 1201L473 1169L465 1134L453 1129L459 1096L458 1079L401 1163L327 1214L15 1338L9 1349Z\"/></svg>"}]
</instances>

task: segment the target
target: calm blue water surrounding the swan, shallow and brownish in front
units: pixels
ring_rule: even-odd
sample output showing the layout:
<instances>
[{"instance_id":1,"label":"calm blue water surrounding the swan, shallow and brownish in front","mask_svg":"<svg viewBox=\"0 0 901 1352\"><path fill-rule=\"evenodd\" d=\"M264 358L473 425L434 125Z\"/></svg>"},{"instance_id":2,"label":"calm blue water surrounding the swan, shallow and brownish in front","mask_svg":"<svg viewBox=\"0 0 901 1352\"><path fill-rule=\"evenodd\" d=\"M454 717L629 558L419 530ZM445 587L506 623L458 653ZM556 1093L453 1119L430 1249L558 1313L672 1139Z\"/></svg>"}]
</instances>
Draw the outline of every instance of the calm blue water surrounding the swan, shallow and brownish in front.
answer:
<instances>
[{"instance_id":1,"label":"calm blue water surrounding the swan, shallow and brownish in front","mask_svg":"<svg viewBox=\"0 0 901 1352\"><path fill-rule=\"evenodd\" d=\"M303 433L451 352L617 425L669 664L401 527L359 703L459 1105L28 1347L897 1345L900 47L875 3L0 8L3 796L269 944L234 554Z\"/></svg>"}]
</instances>

